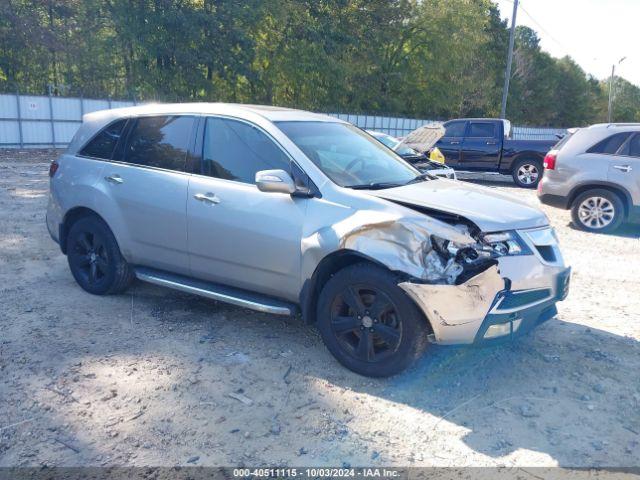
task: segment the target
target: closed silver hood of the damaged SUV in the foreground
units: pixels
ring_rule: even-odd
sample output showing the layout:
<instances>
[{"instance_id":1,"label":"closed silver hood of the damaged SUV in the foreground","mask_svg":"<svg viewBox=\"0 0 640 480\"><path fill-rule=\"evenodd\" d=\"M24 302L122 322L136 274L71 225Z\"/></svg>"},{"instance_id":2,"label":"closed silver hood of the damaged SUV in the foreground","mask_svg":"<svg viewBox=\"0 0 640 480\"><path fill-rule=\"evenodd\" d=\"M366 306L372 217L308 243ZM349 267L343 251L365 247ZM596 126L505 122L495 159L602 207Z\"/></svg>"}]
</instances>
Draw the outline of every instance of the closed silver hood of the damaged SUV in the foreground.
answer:
<instances>
[{"instance_id":1,"label":"closed silver hood of the damaged SUV in the foreground","mask_svg":"<svg viewBox=\"0 0 640 480\"><path fill-rule=\"evenodd\" d=\"M549 225L547 216L539 208L495 189L466 182L429 180L366 192L407 205L460 215L483 232Z\"/></svg>"}]
</instances>

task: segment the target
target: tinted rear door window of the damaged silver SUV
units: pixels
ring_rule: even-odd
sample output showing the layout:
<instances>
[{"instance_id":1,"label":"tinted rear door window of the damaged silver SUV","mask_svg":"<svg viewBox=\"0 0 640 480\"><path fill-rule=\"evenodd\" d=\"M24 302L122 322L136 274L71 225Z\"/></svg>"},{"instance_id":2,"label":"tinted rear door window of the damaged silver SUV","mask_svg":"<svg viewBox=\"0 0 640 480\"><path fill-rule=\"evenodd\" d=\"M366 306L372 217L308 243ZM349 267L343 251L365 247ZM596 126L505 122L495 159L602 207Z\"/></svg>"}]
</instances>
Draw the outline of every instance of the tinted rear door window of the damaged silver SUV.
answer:
<instances>
[{"instance_id":1,"label":"tinted rear door window of the damaged silver SUV","mask_svg":"<svg viewBox=\"0 0 640 480\"><path fill-rule=\"evenodd\" d=\"M184 170L193 117L140 117L136 120L124 155L136 165Z\"/></svg>"}]
</instances>

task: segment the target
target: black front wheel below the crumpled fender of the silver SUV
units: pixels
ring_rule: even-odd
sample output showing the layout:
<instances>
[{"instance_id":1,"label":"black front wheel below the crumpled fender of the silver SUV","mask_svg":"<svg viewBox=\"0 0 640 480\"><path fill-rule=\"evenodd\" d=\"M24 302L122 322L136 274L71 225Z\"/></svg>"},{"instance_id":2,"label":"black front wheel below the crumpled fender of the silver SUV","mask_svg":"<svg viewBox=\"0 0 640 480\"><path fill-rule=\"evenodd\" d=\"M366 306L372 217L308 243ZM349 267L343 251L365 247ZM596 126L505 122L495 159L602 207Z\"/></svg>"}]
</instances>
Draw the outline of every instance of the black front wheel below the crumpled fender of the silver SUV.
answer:
<instances>
[{"instance_id":1,"label":"black front wheel below the crumpled fender of the silver SUV","mask_svg":"<svg viewBox=\"0 0 640 480\"><path fill-rule=\"evenodd\" d=\"M318 299L318 329L345 367L367 377L401 372L427 346L427 323L387 270L358 263L340 270Z\"/></svg>"}]
</instances>

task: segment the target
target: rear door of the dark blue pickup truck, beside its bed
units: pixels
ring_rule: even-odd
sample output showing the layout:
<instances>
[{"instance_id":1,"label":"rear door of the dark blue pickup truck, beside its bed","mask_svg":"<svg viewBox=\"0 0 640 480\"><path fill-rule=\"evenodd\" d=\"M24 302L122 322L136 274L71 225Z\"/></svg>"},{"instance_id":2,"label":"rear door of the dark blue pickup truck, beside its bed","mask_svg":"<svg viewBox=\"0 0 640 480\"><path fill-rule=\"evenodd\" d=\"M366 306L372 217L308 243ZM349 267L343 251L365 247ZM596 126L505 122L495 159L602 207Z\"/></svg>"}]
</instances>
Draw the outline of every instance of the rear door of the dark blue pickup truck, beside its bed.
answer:
<instances>
[{"instance_id":1,"label":"rear door of the dark blue pickup truck, beside its bed","mask_svg":"<svg viewBox=\"0 0 640 480\"><path fill-rule=\"evenodd\" d=\"M498 124L490 121L470 121L462 142L460 164L463 168L493 170L500 162L502 142Z\"/></svg>"}]
</instances>

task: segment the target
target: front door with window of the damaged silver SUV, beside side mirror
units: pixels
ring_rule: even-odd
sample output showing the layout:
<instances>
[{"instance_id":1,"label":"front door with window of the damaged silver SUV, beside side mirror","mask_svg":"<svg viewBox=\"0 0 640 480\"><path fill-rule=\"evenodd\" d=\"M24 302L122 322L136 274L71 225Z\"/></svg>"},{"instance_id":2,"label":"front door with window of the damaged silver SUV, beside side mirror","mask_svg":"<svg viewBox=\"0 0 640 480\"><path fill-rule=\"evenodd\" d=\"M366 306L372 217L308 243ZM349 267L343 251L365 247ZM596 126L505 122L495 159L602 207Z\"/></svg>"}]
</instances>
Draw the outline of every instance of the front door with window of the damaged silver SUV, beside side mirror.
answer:
<instances>
[{"instance_id":1,"label":"front door with window of the damaged silver SUV, beside side mirror","mask_svg":"<svg viewBox=\"0 0 640 480\"><path fill-rule=\"evenodd\" d=\"M291 170L291 159L256 125L204 120L202 154L187 202L192 274L267 295L297 299L302 227L309 199L262 192L260 170Z\"/></svg>"}]
</instances>

